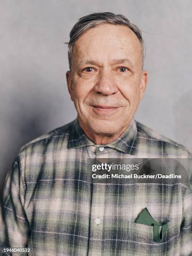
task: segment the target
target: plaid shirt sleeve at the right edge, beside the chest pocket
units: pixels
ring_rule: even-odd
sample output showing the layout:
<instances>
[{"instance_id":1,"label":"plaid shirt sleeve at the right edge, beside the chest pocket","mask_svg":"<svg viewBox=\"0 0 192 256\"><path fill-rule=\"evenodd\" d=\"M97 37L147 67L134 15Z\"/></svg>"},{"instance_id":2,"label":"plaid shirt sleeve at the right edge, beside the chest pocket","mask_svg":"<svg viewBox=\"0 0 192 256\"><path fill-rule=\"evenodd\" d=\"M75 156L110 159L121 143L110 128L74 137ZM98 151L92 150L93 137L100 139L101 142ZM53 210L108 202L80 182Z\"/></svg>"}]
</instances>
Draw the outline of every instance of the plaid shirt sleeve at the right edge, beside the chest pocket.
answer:
<instances>
[{"instance_id":1,"label":"plaid shirt sleeve at the right edge, beside the chest pocket","mask_svg":"<svg viewBox=\"0 0 192 256\"><path fill-rule=\"evenodd\" d=\"M192 185L189 180L183 200L183 218L181 225L181 256L192 255Z\"/></svg>"}]
</instances>

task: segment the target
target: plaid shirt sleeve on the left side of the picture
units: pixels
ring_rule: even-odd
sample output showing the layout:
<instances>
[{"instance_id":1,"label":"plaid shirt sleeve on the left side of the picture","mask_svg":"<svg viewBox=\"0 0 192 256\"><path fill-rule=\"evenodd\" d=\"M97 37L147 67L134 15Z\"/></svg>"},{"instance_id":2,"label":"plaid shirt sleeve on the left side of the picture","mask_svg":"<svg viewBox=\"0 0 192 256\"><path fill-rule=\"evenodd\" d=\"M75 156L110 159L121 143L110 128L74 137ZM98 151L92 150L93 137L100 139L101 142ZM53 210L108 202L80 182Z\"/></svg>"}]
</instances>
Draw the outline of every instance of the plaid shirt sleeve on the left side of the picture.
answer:
<instances>
[{"instance_id":1,"label":"plaid shirt sleeve on the left side of the picture","mask_svg":"<svg viewBox=\"0 0 192 256\"><path fill-rule=\"evenodd\" d=\"M25 184L19 156L8 173L0 204L0 247L27 247L30 233L24 210Z\"/></svg>"}]
</instances>

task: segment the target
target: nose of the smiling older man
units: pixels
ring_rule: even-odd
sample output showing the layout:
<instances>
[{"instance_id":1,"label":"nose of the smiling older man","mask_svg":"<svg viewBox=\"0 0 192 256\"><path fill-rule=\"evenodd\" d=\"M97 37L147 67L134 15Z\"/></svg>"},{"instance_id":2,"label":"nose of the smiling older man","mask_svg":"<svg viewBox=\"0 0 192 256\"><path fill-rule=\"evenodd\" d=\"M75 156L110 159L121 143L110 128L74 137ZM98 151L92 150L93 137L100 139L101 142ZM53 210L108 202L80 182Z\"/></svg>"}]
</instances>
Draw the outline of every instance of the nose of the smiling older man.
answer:
<instances>
[{"instance_id":1,"label":"nose of the smiling older man","mask_svg":"<svg viewBox=\"0 0 192 256\"><path fill-rule=\"evenodd\" d=\"M113 74L110 71L102 70L97 77L94 90L106 96L117 93L118 87L115 85Z\"/></svg>"}]
</instances>

